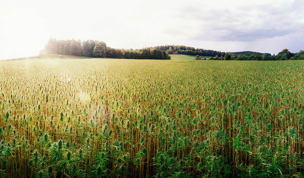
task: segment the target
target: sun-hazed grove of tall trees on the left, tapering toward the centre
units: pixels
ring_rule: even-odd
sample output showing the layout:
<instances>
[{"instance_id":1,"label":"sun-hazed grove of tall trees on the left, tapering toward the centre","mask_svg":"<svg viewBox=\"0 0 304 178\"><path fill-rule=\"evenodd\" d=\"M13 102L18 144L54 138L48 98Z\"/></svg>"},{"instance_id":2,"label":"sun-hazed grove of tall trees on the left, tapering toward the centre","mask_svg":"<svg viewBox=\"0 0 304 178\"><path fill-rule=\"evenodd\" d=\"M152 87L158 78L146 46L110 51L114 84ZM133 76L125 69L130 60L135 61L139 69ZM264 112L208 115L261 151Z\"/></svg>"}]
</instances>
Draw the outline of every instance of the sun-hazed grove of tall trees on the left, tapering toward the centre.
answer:
<instances>
[{"instance_id":1,"label":"sun-hazed grove of tall trees on the left, tapering toward the centre","mask_svg":"<svg viewBox=\"0 0 304 178\"><path fill-rule=\"evenodd\" d=\"M103 41L56 40L52 37L48 40L43 52L91 58L171 59L166 51L155 48L114 49L107 47Z\"/></svg>"}]
</instances>

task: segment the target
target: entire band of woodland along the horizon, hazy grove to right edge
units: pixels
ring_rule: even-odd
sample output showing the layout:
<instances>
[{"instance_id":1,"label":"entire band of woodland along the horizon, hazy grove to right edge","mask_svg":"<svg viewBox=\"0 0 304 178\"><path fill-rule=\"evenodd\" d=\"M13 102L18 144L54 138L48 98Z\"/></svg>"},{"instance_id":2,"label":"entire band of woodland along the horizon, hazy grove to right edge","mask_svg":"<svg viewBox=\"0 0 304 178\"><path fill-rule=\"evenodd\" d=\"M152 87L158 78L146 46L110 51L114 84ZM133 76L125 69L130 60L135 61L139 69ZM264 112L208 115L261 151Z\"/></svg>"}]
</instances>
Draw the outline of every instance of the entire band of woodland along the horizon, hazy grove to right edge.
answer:
<instances>
[{"instance_id":1,"label":"entire band of woodland along the horizon, hazy grove to right edge","mask_svg":"<svg viewBox=\"0 0 304 178\"><path fill-rule=\"evenodd\" d=\"M221 51L205 50L183 45L163 45L146 47L142 49L114 49L107 47L103 41L80 40L56 40L50 38L45 45L45 52L85 56L91 58L119 58L119 59L171 59L169 54L196 55L195 60L207 60L200 56L211 56L208 60L238 60L238 61L277 61L277 60L304 60L304 51L291 53L284 49L278 55L259 53L253 51L241 51L225 53Z\"/></svg>"}]
</instances>

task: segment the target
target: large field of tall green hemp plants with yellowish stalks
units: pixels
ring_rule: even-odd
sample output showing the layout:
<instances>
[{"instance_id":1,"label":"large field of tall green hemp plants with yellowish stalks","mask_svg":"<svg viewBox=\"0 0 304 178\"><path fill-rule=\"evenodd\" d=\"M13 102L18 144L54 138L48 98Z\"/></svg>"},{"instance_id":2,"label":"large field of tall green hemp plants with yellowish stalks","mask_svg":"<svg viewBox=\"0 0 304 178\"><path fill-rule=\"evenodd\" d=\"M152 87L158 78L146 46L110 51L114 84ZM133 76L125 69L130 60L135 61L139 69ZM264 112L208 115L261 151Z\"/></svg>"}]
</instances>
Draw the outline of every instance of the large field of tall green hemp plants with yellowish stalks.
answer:
<instances>
[{"instance_id":1,"label":"large field of tall green hemp plants with yellowish stalks","mask_svg":"<svg viewBox=\"0 0 304 178\"><path fill-rule=\"evenodd\" d=\"M303 176L303 68L0 61L0 176Z\"/></svg>"}]
</instances>

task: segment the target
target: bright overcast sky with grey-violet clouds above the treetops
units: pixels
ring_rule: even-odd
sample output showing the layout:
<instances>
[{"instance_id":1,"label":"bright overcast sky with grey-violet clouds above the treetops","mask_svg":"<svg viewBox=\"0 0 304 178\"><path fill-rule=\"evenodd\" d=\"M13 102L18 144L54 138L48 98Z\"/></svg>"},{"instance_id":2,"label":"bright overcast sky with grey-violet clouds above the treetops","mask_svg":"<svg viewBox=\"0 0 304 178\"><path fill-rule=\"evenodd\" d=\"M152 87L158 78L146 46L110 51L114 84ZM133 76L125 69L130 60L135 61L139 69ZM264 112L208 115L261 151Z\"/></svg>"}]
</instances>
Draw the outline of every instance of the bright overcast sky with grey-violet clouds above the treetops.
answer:
<instances>
[{"instance_id":1,"label":"bright overcast sky with grey-violet clouds above the treetops","mask_svg":"<svg viewBox=\"0 0 304 178\"><path fill-rule=\"evenodd\" d=\"M3 1L0 59L37 55L50 37L113 48L175 44L278 54L304 49L303 0Z\"/></svg>"}]
</instances>

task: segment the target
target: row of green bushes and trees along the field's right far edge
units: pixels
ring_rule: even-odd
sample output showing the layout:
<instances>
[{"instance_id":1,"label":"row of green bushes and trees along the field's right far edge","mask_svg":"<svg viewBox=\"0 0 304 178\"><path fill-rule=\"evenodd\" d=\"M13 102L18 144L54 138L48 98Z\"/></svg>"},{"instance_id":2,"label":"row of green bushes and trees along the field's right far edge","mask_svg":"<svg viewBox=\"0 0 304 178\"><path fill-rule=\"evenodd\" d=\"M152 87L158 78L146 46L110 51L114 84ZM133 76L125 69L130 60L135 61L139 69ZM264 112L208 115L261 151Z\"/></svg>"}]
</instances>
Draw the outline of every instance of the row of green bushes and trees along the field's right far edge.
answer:
<instances>
[{"instance_id":1,"label":"row of green bushes and trees along the field's right far edge","mask_svg":"<svg viewBox=\"0 0 304 178\"><path fill-rule=\"evenodd\" d=\"M243 51L247 52L247 51ZM251 51L249 51L251 52ZM278 55L268 55L269 53L255 54L257 52L252 52L252 55L244 55L246 53L236 52L236 53L226 53L224 57L215 57L211 58L201 58L199 55L195 56L195 60L237 60L237 61L282 61L282 60L304 60L304 51L301 50L297 53L291 53L288 49L284 49L278 53ZM247 53L249 54L249 53ZM255 54L255 55L254 55Z\"/></svg>"}]
</instances>

